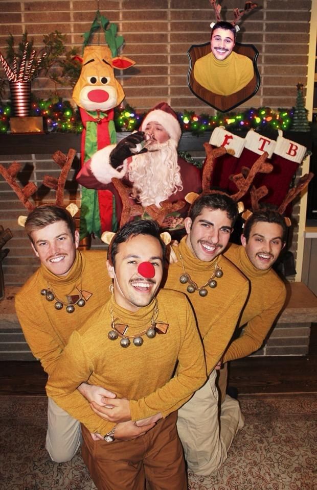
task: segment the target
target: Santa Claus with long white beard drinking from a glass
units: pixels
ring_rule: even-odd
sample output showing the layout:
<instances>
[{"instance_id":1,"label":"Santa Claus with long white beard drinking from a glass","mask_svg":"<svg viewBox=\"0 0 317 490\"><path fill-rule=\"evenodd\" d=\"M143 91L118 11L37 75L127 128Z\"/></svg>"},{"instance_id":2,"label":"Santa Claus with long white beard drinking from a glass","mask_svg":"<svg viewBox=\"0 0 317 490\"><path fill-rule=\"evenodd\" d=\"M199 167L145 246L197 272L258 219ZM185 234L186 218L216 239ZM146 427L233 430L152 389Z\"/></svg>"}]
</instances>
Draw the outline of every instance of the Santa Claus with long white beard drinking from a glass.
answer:
<instances>
[{"instance_id":1,"label":"Santa Claus with long white beard drinking from a glass","mask_svg":"<svg viewBox=\"0 0 317 490\"><path fill-rule=\"evenodd\" d=\"M121 179L131 189L129 198L142 208L160 208L163 202L184 200L188 192L201 191L201 175L197 167L177 154L181 134L175 112L162 102L144 117L138 132L95 153L76 179L84 187L114 193L118 222L122 203L112 178ZM184 202L181 216L186 215L187 207Z\"/></svg>"}]
</instances>

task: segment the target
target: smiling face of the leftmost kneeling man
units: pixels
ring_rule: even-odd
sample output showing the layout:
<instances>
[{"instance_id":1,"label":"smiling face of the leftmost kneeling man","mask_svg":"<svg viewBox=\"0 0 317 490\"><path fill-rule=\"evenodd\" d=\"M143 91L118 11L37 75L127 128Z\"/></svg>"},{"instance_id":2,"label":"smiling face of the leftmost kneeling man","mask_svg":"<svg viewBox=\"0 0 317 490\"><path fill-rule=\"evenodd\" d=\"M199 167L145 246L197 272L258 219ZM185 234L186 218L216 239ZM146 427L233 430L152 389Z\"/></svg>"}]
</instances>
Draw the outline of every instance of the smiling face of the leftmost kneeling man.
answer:
<instances>
[{"instance_id":1,"label":"smiling face of the leftmost kneeling man","mask_svg":"<svg viewBox=\"0 0 317 490\"><path fill-rule=\"evenodd\" d=\"M31 233L31 243L35 255L50 272L56 276L65 276L72 267L79 243L79 233L75 232L75 241L64 221L57 221Z\"/></svg>"}]
</instances>

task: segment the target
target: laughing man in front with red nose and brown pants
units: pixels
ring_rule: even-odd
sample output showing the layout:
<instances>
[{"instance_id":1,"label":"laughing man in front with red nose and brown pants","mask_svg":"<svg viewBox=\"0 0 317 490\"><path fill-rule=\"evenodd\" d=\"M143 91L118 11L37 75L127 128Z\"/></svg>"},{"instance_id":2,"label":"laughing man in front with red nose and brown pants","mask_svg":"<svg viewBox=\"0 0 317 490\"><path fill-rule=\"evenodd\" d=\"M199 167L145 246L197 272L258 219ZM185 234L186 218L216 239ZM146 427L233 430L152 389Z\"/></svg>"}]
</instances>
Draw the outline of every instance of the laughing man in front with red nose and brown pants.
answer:
<instances>
[{"instance_id":1,"label":"laughing man in front with red nose and brown pants","mask_svg":"<svg viewBox=\"0 0 317 490\"><path fill-rule=\"evenodd\" d=\"M206 363L187 298L159 291L163 235L154 220L137 220L111 238L112 297L73 333L47 384L48 395L82 423L82 456L99 490L143 490L145 481L187 489L177 409L205 382ZM78 394L82 378L118 397L109 421ZM144 434L135 437L137 421L146 418Z\"/></svg>"}]
</instances>

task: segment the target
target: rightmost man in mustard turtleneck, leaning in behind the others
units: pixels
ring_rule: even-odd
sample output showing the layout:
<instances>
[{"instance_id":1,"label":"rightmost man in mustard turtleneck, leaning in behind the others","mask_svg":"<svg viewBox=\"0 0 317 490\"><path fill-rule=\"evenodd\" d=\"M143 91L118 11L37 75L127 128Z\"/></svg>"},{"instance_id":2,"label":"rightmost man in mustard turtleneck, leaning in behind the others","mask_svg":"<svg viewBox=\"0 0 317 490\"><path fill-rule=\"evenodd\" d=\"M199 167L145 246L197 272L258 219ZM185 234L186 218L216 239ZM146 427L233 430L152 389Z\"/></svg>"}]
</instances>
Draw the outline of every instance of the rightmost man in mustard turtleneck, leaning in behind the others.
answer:
<instances>
[{"instance_id":1,"label":"rightmost man in mustard turtleneck, leaning in behind the others","mask_svg":"<svg viewBox=\"0 0 317 490\"><path fill-rule=\"evenodd\" d=\"M285 246L285 237L284 217L275 210L263 209L246 220L242 246L230 244L224 252L250 280L251 290L238 324L243 333L231 342L223 356L225 364L219 378L222 398L227 387L227 362L260 349L284 305L285 284L271 267Z\"/></svg>"}]
</instances>

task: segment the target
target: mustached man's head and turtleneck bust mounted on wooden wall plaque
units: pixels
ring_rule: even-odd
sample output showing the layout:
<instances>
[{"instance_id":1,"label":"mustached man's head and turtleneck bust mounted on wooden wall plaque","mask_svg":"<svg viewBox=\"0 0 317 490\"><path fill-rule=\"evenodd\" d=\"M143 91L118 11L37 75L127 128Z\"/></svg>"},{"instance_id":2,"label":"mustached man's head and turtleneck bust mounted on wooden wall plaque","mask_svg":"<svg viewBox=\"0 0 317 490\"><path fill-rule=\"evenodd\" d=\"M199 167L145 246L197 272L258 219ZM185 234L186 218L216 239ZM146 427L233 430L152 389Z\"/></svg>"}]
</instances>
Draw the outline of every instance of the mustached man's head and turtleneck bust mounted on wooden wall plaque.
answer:
<instances>
[{"instance_id":1,"label":"mustached man's head and turtleneck bust mounted on wooden wall plaque","mask_svg":"<svg viewBox=\"0 0 317 490\"><path fill-rule=\"evenodd\" d=\"M217 22L211 31L211 53L194 65L195 80L219 95L231 95L245 87L254 76L250 58L233 51L236 29L230 22Z\"/></svg>"}]
</instances>

